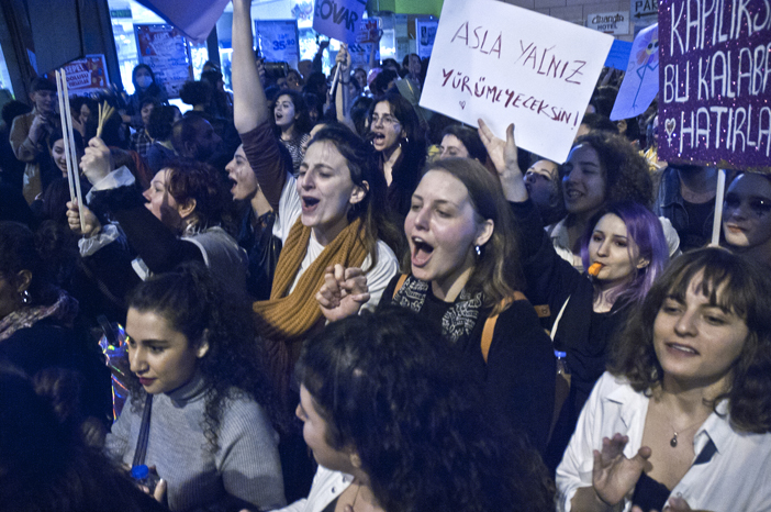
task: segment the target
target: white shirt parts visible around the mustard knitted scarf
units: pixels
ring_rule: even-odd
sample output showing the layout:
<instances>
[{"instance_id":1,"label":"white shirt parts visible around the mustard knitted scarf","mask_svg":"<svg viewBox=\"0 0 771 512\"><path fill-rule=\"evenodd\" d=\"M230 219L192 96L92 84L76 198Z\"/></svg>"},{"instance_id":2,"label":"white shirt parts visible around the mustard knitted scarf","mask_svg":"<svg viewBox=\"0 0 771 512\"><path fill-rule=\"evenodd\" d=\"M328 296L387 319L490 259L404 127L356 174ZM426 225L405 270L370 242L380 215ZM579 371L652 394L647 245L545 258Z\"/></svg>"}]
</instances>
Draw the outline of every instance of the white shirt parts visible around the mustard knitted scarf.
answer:
<instances>
[{"instance_id":1,"label":"white shirt parts visible around the mustard knitted scarf","mask_svg":"<svg viewBox=\"0 0 771 512\"><path fill-rule=\"evenodd\" d=\"M283 185L283 189L281 190L279 212L276 218L276 223L273 224L273 236L281 238L282 244L287 242L289 232L302 213L302 201L300 199L300 194L298 193L297 182L298 180L294 177L288 176L287 182ZM308 267L310 267L313 261L316 260L323 251L324 246L319 243L313 233L311 233L305 257L300 263L300 269L294 276L292 286L289 288L290 293L294 290L294 287L300 280L300 276L302 276ZM367 288L369 289L369 301L362 305L362 310L375 311L375 308L378 307L386 287L399 271L399 260L388 244L382 241L378 241L377 251L378 265L370 268L372 267L372 258L370 255L367 255L361 264L361 268L367 272Z\"/></svg>"}]
</instances>

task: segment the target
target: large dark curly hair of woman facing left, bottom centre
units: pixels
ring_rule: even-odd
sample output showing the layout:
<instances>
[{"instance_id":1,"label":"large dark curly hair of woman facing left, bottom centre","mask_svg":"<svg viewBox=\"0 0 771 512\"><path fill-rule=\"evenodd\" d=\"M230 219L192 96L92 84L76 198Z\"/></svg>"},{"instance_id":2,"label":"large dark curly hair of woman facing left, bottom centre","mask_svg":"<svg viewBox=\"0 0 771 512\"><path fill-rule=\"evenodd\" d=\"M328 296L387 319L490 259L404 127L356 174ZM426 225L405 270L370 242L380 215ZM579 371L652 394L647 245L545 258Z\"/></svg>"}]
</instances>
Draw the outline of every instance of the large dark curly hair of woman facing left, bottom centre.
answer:
<instances>
[{"instance_id":1,"label":"large dark curly hair of woman facing left, bottom centre","mask_svg":"<svg viewBox=\"0 0 771 512\"><path fill-rule=\"evenodd\" d=\"M334 322L305 343L297 370L328 442L358 454L384 510L554 510L538 455L493 426L460 353L416 313Z\"/></svg>"}]
</instances>

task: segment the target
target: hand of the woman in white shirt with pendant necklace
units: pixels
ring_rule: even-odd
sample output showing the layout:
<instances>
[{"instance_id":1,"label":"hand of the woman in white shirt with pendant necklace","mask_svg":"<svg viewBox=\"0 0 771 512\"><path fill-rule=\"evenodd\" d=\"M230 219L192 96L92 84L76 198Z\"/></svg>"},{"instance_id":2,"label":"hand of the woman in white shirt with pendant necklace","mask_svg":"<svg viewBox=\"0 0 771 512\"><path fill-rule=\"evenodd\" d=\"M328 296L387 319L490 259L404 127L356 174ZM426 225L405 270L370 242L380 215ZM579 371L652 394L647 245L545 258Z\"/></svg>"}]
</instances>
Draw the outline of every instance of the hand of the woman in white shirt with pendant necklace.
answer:
<instances>
[{"instance_id":1,"label":"hand of the woman in white shirt with pendant necklace","mask_svg":"<svg viewBox=\"0 0 771 512\"><path fill-rule=\"evenodd\" d=\"M602 452L594 450L592 486L608 507L619 503L635 488L650 458L647 446L642 446L633 458L627 458L624 447L628 442L628 436L615 434L613 438L602 439Z\"/></svg>"}]
</instances>

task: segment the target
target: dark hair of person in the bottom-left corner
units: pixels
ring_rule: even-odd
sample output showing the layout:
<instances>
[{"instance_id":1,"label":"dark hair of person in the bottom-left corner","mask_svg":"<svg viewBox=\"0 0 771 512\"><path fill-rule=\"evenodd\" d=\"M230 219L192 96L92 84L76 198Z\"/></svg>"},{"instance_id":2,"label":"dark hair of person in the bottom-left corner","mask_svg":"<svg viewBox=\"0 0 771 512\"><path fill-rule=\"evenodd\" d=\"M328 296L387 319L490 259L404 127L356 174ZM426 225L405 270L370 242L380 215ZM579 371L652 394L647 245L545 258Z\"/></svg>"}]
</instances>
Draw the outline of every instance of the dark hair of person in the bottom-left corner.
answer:
<instances>
[{"instance_id":1,"label":"dark hair of person in the bottom-left corner","mask_svg":"<svg viewBox=\"0 0 771 512\"><path fill-rule=\"evenodd\" d=\"M81 433L81 376L46 369L34 382L0 360L0 496L2 510L139 511L152 505Z\"/></svg>"}]
</instances>

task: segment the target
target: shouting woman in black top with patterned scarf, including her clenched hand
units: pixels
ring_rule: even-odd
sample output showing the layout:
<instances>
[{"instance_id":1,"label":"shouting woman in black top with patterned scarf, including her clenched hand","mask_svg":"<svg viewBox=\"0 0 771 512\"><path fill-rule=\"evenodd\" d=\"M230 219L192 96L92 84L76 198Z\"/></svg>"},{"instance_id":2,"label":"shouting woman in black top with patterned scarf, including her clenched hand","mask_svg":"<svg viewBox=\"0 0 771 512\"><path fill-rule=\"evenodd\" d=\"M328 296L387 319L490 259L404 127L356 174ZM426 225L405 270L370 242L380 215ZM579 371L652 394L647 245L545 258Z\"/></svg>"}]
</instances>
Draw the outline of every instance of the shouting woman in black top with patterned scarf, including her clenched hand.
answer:
<instances>
[{"instance_id":1,"label":"shouting woman in black top with patterned scarf, including her clenched hand","mask_svg":"<svg viewBox=\"0 0 771 512\"><path fill-rule=\"evenodd\" d=\"M543 452L554 411L555 358L533 305L518 292L514 230L500 183L479 162L434 162L404 221L411 271L394 277L384 296L440 330L448 347L465 355L488 407ZM329 272L319 293L328 320L358 311L350 282L342 279L347 274Z\"/></svg>"}]
</instances>

